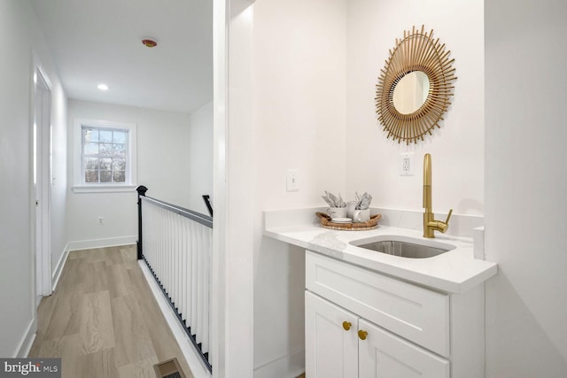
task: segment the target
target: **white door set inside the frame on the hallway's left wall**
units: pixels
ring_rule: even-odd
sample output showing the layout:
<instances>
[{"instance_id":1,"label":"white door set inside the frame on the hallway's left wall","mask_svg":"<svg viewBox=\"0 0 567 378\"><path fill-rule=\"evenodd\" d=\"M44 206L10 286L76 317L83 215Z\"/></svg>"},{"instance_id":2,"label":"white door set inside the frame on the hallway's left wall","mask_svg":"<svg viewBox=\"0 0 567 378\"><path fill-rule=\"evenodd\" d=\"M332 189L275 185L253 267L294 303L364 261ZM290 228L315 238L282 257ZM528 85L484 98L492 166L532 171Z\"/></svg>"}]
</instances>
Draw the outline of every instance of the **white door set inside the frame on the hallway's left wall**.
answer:
<instances>
[{"instance_id":1,"label":"white door set inside the frame on the hallway's left wall","mask_svg":"<svg viewBox=\"0 0 567 378\"><path fill-rule=\"evenodd\" d=\"M50 139L51 91L40 66L34 72L35 286L38 296L51 294Z\"/></svg>"}]
</instances>

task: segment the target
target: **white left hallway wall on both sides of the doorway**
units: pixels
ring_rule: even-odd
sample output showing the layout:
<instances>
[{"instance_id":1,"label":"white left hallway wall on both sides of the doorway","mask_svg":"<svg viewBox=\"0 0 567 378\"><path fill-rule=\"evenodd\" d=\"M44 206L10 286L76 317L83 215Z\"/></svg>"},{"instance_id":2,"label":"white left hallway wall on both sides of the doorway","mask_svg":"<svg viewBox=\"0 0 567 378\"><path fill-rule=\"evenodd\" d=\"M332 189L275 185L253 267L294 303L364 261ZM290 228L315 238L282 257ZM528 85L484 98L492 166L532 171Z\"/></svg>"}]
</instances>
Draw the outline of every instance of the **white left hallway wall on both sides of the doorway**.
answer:
<instances>
[{"instance_id":1,"label":"white left hallway wall on both sides of the doorway","mask_svg":"<svg viewBox=\"0 0 567 378\"><path fill-rule=\"evenodd\" d=\"M0 2L0 356L25 353L26 338L35 332L35 256L31 228L30 94L32 49L41 60L52 88L53 174L51 230L53 260L65 245L65 107L47 44L27 1ZM27 339L29 341L29 339Z\"/></svg>"}]
</instances>

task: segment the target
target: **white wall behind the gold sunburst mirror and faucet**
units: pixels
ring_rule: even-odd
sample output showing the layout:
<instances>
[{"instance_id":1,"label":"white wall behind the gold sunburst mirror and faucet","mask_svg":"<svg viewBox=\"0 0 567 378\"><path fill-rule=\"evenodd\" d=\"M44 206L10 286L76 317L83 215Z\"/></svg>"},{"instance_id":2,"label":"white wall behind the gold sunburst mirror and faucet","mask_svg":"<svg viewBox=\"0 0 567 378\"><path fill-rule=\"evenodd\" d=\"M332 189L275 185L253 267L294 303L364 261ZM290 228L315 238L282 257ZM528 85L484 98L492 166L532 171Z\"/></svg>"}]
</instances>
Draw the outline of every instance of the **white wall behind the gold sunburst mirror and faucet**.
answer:
<instances>
[{"instance_id":1,"label":"white wall behind the gold sunburst mirror and faucet","mask_svg":"<svg viewBox=\"0 0 567 378\"><path fill-rule=\"evenodd\" d=\"M433 210L484 213L483 4L451 0L349 0L346 39L346 191L373 205L421 210L423 155L431 153ZM458 79L442 126L424 142L386 139L376 114L380 69L404 30L424 25L447 44ZM314 49L317 47L314 46ZM415 175L400 176L400 152L414 151Z\"/></svg>"}]
</instances>

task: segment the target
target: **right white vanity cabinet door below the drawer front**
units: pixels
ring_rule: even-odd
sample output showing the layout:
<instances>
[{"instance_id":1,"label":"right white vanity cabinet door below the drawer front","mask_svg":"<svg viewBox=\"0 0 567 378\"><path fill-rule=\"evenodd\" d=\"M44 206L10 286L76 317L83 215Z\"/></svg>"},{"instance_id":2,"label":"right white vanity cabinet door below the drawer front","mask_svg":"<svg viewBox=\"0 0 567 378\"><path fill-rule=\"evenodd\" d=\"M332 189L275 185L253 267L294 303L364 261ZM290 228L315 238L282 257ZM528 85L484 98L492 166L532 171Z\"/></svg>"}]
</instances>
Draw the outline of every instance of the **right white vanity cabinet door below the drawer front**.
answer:
<instances>
[{"instance_id":1,"label":"right white vanity cabinet door below the drawer front","mask_svg":"<svg viewBox=\"0 0 567 378\"><path fill-rule=\"evenodd\" d=\"M366 320L359 320L359 329L368 332L365 340L359 340L360 378L449 378L447 359Z\"/></svg>"}]
</instances>

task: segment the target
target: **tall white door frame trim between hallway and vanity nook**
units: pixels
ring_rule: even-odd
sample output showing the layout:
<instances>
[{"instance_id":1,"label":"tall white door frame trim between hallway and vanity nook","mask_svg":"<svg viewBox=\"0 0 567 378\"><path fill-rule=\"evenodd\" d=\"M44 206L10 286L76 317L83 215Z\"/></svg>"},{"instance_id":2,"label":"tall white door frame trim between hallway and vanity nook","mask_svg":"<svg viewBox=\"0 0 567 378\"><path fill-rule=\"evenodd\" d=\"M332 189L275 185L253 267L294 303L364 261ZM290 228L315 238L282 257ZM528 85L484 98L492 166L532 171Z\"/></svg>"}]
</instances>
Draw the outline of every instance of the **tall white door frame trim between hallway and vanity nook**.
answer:
<instances>
[{"instance_id":1,"label":"tall white door frame trim between hallway and vanity nook","mask_svg":"<svg viewBox=\"0 0 567 378\"><path fill-rule=\"evenodd\" d=\"M254 0L214 0L213 377L254 375L252 21Z\"/></svg>"}]
</instances>

